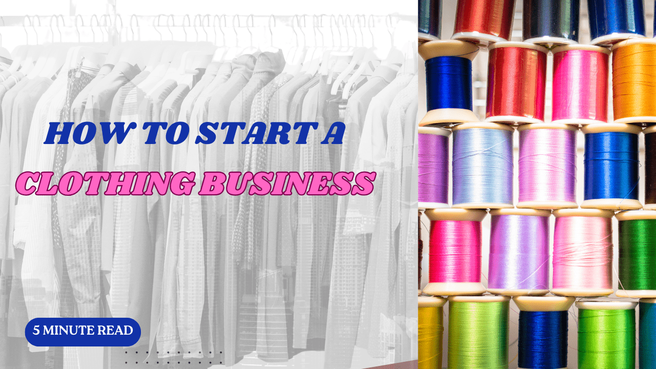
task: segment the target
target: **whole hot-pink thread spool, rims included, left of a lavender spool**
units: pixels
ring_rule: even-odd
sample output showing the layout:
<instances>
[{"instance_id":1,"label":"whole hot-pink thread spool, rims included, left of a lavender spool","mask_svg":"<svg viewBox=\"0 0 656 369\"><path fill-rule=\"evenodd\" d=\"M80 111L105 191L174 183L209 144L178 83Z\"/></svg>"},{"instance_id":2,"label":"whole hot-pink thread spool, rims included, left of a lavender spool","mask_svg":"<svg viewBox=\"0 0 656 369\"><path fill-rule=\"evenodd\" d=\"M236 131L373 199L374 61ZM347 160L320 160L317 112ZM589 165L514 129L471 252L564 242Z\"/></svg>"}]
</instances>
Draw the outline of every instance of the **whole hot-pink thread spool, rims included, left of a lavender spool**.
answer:
<instances>
[{"instance_id":1,"label":"whole hot-pink thread spool, rims included, left of a lavender spool","mask_svg":"<svg viewBox=\"0 0 656 369\"><path fill-rule=\"evenodd\" d=\"M430 260L426 295L480 295L483 210L430 209Z\"/></svg>"}]
</instances>

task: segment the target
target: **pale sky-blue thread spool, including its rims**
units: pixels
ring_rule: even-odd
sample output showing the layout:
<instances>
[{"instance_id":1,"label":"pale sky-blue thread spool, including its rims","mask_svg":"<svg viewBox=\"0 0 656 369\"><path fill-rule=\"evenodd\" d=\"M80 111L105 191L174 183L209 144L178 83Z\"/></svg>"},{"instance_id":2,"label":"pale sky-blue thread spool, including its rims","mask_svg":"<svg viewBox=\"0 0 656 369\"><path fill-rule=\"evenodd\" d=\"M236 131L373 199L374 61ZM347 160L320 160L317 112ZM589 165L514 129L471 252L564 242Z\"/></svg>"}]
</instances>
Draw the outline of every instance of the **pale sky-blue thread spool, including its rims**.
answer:
<instances>
[{"instance_id":1,"label":"pale sky-blue thread spool, including its rims","mask_svg":"<svg viewBox=\"0 0 656 369\"><path fill-rule=\"evenodd\" d=\"M453 207L513 207L513 131L508 125L487 122L453 127Z\"/></svg>"}]
</instances>

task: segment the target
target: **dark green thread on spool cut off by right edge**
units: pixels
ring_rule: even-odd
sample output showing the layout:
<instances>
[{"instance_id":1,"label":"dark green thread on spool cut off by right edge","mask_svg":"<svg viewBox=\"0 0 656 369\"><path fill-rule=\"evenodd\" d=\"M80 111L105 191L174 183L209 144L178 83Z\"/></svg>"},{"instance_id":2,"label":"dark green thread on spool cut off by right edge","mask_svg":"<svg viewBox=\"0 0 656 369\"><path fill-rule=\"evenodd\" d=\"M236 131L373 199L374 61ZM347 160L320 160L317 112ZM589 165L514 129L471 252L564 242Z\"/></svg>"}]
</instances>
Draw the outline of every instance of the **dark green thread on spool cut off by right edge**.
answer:
<instances>
[{"instance_id":1,"label":"dark green thread on spool cut off by right edge","mask_svg":"<svg viewBox=\"0 0 656 369\"><path fill-rule=\"evenodd\" d=\"M619 221L619 288L656 290L656 219Z\"/></svg>"}]
</instances>

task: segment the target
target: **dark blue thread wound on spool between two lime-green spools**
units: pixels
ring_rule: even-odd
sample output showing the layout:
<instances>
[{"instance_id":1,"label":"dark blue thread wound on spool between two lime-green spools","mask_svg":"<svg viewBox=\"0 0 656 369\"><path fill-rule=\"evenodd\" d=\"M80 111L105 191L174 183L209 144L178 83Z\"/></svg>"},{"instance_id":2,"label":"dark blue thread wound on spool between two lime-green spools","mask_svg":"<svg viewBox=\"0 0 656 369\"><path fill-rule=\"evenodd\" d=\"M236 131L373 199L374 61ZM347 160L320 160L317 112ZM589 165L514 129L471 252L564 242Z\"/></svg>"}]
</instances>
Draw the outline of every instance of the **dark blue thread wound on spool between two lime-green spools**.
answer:
<instances>
[{"instance_id":1,"label":"dark blue thread wound on spool between two lime-green spools","mask_svg":"<svg viewBox=\"0 0 656 369\"><path fill-rule=\"evenodd\" d=\"M567 311L520 311L520 368L567 368Z\"/></svg>"}]
</instances>

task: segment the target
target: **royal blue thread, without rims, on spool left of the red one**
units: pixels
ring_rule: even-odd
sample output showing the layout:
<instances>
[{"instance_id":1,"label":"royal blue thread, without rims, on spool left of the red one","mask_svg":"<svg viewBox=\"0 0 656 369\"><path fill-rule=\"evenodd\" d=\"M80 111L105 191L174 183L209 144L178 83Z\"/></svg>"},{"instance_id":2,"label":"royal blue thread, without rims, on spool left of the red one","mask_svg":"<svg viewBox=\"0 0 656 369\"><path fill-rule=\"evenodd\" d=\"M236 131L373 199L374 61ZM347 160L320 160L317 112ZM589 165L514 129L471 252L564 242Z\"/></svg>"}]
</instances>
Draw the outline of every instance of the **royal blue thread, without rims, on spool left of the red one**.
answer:
<instances>
[{"instance_id":1,"label":"royal blue thread, without rims, on spool left of the red one","mask_svg":"<svg viewBox=\"0 0 656 369\"><path fill-rule=\"evenodd\" d=\"M437 56L426 60L426 107L472 110L472 60Z\"/></svg>"}]
</instances>

